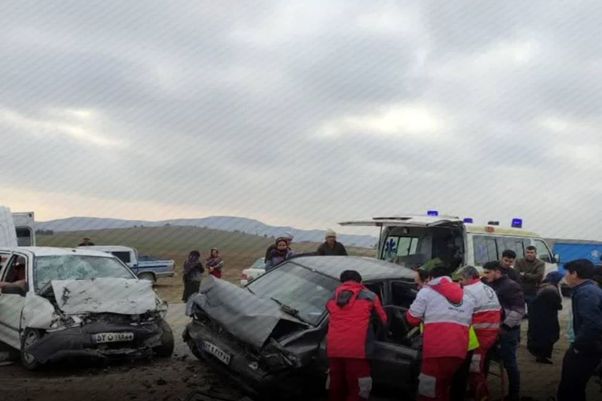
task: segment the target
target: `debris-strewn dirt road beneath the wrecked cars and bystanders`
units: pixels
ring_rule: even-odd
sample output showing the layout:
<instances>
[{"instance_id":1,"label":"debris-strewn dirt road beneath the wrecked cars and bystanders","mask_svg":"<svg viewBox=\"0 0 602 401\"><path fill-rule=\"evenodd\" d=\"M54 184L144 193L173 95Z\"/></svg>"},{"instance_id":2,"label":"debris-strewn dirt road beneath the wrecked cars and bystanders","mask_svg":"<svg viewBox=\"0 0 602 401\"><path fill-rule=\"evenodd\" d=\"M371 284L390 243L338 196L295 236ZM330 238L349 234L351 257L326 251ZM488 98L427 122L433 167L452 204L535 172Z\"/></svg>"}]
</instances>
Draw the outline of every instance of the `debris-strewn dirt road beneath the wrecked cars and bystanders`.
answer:
<instances>
[{"instance_id":1,"label":"debris-strewn dirt road beneath the wrecked cars and bystanders","mask_svg":"<svg viewBox=\"0 0 602 401\"><path fill-rule=\"evenodd\" d=\"M556 396L562 355L568 346L564 328L570 303L565 299L564 304L561 313L563 332L554 349L554 365L535 363L535 358L526 349L527 322L523 324L518 351L523 396L531 396L536 400ZM181 339L182 330L188 322L188 317L184 316L184 304L171 304L167 320L176 338L175 353L169 360L110 366L64 363L34 373L27 372L19 363L15 363L0 367L0 400L176 401L187 399L194 390L213 393L225 399L238 400L243 397L228 378L214 374L188 352L188 347ZM492 370L495 372L497 366L492 366ZM489 385L492 396L498 399L500 379L490 376ZM588 399L597 400L600 397L600 386L592 379L588 387Z\"/></svg>"}]
</instances>

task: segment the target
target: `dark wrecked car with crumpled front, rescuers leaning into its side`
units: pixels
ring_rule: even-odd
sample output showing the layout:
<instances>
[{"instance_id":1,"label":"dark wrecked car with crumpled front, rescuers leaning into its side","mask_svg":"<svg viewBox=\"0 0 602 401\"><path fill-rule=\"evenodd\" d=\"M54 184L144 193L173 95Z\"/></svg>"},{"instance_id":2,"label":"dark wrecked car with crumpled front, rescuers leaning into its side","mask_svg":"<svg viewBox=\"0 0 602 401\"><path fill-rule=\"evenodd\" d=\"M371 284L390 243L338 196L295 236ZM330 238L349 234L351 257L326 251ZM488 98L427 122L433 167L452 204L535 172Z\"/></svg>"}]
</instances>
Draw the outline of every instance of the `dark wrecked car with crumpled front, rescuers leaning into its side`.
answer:
<instances>
[{"instance_id":1,"label":"dark wrecked car with crumpled front, rescuers leaning into its side","mask_svg":"<svg viewBox=\"0 0 602 401\"><path fill-rule=\"evenodd\" d=\"M381 260L297 257L245 288L208 277L188 301L193 320L184 340L196 357L261 399L306 398L326 384L326 302L347 269L362 275L388 315L375 333L374 388L413 390L421 338L405 312L417 293L414 272Z\"/></svg>"}]
</instances>

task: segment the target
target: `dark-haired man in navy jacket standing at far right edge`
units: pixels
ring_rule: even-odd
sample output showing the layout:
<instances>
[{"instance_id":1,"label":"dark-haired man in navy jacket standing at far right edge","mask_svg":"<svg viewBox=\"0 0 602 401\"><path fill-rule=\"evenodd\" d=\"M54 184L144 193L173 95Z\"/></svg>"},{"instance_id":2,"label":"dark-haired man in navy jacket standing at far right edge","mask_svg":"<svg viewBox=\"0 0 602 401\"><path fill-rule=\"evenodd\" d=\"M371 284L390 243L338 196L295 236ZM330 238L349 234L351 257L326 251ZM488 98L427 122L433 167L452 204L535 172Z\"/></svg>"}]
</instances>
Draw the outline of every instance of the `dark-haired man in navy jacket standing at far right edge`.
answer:
<instances>
[{"instance_id":1,"label":"dark-haired man in navy jacket standing at far right edge","mask_svg":"<svg viewBox=\"0 0 602 401\"><path fill-rule=\"evenodd\" d=\"M562 360L558 401L585 401L589 378L602 361L602 289L592 277L594 263L577 259L565 263L566 283L573 289L574 342Z\"/></svg>"}]
</instances>

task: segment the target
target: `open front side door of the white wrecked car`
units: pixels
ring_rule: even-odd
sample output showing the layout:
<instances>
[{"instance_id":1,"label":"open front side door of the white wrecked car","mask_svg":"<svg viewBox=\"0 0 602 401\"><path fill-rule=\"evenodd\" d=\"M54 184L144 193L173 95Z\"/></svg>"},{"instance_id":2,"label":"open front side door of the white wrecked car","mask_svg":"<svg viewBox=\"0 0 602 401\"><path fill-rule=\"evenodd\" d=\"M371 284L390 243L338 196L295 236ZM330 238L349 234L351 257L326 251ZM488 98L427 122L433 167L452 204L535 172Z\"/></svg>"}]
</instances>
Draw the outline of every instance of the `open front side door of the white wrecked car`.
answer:
<instances>
[{"instance_id":1,"label":"open front side door of the white wrecked car","mask_svg":"<svg viewBox=\"0 0 602 401\"><path fill-rule=\"evenodd\" d=\"M7 281L10 278L18 260L24 260L25 271L30 271L30 258L25 254L13 253L5 268L2 269L1 281ZM28 282L30 281L28 278ZM7 287L2 289L0 293L0 335L2 341L16 348L20 347L20 321L24 305L25 292Z\"/></svg>"}]
</instances>

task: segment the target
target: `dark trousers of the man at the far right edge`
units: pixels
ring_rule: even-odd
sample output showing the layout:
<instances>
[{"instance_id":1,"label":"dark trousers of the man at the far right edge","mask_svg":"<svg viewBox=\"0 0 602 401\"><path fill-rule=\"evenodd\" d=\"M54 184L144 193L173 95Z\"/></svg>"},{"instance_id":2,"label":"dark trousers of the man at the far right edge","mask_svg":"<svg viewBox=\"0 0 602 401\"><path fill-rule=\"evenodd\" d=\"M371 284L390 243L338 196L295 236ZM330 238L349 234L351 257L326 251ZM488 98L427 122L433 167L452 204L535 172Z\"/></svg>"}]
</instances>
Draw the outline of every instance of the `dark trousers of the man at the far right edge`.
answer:
<instances>
[{"instance_id":1,"label":"dark trousers of the man at the far right edge","mask_svg":"<svg viewBox=\"0 0 602 401\"><path fill-rule=\"evenodd\" d=\"M558 401L585 401L585 388L594 370L602 361L602 354L588 350L566 350L562 360L562 378L558 385Z\"/></svg>"}]
</instances>

